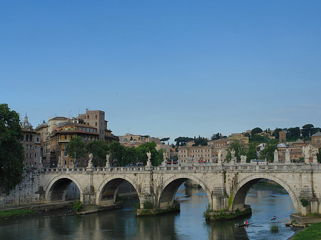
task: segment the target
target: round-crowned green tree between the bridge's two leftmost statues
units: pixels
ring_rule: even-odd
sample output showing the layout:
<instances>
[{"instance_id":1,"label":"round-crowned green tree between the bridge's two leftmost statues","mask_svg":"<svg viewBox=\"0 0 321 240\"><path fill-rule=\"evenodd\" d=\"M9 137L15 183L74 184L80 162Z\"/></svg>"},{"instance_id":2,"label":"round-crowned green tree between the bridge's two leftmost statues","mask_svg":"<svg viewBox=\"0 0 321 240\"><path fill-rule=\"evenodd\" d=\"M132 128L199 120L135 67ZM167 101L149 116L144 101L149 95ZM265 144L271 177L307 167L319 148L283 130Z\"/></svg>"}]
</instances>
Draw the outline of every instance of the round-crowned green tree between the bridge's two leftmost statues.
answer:
<instances>
[{"instance_id":1,"label":"round-crowned green tree between the bridge's two leftmost statues","mask_svg":"<svg viewBox=\"0 0 321 240\"><path fill-rule=\"evenodd\" d=\"M93 167L105 167L109 150L106 142L101 140L89 142L86 149L93 154Z\"/></svg>"}]
</instances>

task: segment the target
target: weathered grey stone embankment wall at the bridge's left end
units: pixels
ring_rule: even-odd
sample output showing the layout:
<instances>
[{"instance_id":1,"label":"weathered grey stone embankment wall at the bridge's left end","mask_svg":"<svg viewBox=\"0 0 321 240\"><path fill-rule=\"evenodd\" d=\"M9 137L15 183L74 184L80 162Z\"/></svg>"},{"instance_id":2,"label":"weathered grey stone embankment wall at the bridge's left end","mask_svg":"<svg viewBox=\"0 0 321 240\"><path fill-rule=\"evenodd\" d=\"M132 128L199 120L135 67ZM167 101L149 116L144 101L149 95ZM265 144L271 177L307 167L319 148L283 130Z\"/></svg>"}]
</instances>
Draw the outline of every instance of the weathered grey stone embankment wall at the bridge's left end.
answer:
<instances>
[{"instance_id":1,"label":"weathered grey stone embankment wall at the bridge's left end","mask_svg":"<svg viewBox=\"0 0 321 240\"><path fill-rule=\"evenodd\" d=\"M38 170L24 172L22 182L9 195L0 193L0 207L34 204L43 202L44 194L39 191Z\"/></svg>"}]
</instances>

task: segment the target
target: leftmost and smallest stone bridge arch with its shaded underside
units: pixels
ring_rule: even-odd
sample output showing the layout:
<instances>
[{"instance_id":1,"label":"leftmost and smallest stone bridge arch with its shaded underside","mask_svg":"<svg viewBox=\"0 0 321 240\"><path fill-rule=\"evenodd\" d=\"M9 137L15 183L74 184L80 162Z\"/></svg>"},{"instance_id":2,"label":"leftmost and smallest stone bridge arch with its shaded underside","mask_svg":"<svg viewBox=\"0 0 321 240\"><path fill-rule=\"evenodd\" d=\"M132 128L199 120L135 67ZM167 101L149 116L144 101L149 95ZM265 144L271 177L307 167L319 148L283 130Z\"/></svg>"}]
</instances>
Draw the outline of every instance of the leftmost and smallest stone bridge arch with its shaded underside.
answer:
<instances>
[{"instance_id":1,"label":"leftmost and smallest stone bridge arch with its shaded underside","mask_svg":"<svg viewBox=\"0 0 321 240\"><path fill-rule=\"evenodd\" d=\"M76 187L78 187L80 200L83 201L83 189L81 188L81 184L79 184L79 182L73 177L66 175L54 177L54 179L49 182L48 187L45 188L45 201L54 202L66 200L66 190L72 182L76 184Z\"/></svg>"}]
</instances>

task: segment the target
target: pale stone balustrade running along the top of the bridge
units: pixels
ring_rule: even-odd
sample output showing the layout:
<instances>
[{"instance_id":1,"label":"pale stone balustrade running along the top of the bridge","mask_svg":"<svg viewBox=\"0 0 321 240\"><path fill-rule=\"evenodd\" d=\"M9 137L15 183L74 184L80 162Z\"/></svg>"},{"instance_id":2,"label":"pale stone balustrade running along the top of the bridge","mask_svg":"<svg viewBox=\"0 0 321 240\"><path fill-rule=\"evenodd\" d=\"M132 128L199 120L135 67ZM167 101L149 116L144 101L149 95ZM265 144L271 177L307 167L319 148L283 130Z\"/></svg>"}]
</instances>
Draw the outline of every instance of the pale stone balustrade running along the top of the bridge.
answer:
<instances>
[{"instance_id":1,"label":"pale stone balustrade running along the top of the bridge","mask_svg":"<svg viewBox=\"0 0 321 240\"><path fill-rule=\"evenodd\" d=\"M42 172L66 173L66 172L220 172L220 171L243 171L243 172L284 172L284 171L320 171L320 164L305 163L269 163L268 165L255 165L251 163L235 164L205 164L205 165L183 165L183 166L159 166L159 167L56 167L44 168Z\"/></svg>"}]
</instances>

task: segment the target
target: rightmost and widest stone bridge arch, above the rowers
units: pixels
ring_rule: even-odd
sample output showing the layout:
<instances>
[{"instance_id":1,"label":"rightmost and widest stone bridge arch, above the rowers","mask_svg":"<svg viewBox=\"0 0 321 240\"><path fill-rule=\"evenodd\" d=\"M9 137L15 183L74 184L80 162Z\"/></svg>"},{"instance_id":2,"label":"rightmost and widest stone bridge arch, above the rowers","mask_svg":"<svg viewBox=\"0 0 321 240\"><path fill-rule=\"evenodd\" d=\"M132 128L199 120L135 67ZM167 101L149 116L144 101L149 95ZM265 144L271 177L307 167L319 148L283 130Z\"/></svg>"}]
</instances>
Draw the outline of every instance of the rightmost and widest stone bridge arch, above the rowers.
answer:
<instances>
[{"instance_id":1,"label":"rightmost and widest stone bridge arch, above the rowers","mask_svg":"<svg viewBox=\"0 0 321 240\"><path fill-rule=\"evenodd\" d=\"M280 184L290 195L293 206L295 207L295 212L300 212L299 200L297 199L295 192L292 190L290 185L287 184L287 182L285 182L283 179L275 177L272 174L251 174L248 177L240 179L240 181L237 184L237 187L233 191L233 205L231 206L232 209L230 210L235 211L236 209L242 209L245 207L245 198L248 195L248 191L253 186L253 184L258 182L260 179L270 179L276 182L277 184Z\"/></svg>"}]
</instances>

